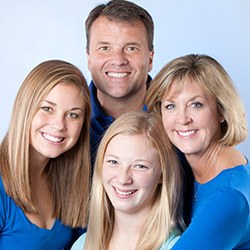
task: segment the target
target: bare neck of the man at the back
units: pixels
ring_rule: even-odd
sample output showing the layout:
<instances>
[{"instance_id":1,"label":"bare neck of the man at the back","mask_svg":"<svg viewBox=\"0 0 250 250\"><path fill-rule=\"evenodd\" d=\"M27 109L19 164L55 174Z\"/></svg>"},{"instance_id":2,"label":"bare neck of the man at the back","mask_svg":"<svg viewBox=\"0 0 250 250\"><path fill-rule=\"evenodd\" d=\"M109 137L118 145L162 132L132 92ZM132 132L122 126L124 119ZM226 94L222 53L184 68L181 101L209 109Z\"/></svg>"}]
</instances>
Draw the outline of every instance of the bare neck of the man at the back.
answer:
<instances>
[{"instance_id":1,"label":"bare neck of the man at the back","mask_svg":"<svg viewBox=\"0 0 250 250\"><path fill-rule=\"evenodd\" d=\"M112 98L97 90L97 99L104 112L115 119L131 110L141 110L144 105L146 89L141 90L136 95L123 98Z\"/></svg>"}]
</instances>

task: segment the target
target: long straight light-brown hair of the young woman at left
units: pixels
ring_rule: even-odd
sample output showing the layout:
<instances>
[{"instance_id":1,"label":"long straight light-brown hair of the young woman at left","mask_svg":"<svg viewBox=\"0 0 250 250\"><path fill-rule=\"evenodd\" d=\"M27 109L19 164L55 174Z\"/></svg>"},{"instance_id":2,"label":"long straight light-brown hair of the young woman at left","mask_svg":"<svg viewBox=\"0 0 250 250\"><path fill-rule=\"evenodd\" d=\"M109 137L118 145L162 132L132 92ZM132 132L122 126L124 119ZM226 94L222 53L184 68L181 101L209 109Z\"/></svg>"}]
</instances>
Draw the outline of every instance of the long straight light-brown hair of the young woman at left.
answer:
<instances>
[{"instance_id":1,"label":"long straight light-brown hair of the young woman at left","mask_svg":"<svg viewBox=\"0 0 250 250\"><path fill-rule=\"evenodd\" d=\"M29 179L29 142L33 116L42 99L58 83L81 89L85 117L77 143L50 159L45 168L54 216L69 226L84 226L89 193L90 97L79 69L60 60L45 61L26 77L17 94L9 130L0 147L0 171L5 190L25 212L36 213Z\"/></svg>"}]
</instances>

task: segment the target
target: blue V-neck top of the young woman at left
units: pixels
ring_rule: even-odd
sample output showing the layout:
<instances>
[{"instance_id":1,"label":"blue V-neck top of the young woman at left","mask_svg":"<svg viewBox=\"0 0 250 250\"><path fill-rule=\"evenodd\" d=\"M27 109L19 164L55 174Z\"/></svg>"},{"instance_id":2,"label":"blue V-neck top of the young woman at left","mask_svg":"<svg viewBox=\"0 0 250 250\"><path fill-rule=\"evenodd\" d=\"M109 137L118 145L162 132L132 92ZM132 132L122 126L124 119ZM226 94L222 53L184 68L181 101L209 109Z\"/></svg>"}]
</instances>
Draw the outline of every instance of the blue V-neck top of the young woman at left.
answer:
<instances>
[{"instance_id":1,"label":"blue V-neck top of the young woman at left","mask_svg":"<svg viewBox=\"0 0 250 250\"><path fill-rule=\"evenodd\" d=\"M31 223L23 210L9 197L0 177L0 249L59 250L69 249L74 230L55 220L50 230Z\"/></svg>"}]
</instances>

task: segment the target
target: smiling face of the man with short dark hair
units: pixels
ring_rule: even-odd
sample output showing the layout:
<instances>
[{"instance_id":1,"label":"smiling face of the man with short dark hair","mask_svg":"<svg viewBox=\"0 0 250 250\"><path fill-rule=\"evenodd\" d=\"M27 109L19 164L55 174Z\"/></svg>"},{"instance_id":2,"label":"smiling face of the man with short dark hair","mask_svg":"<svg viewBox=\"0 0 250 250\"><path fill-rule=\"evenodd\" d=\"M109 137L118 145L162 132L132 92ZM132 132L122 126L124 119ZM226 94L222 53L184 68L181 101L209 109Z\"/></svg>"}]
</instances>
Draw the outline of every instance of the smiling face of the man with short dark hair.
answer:
<instances>
[{"instance_id":1,"label":"smiling face of the man with short dark hair","mask_svg":"<svg viewBox=\"0 0 250 250\"><path fill-rule=\"evenodd\" d=\"M153 55L141 21L117 22L101 16L91 26L88 67L102 98L127 98L145 91Z\"/></svg>"}]
</instances>

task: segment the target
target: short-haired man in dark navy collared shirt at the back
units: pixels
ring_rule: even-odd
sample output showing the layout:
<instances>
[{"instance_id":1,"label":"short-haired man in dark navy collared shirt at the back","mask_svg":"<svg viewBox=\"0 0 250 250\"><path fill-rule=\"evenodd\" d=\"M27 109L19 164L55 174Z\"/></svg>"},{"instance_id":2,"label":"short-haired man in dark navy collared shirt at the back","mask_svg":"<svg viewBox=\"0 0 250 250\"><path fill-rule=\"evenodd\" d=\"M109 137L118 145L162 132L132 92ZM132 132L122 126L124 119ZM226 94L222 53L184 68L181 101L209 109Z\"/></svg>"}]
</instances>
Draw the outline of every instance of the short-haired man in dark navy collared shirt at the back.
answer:
<instances>
[{"instance_id":1,"label":"short-haired man in dark navy collared shirt at the back","mask_svg":"<svg viewBox=\"0 0 250 250\"><path fill-rule=\"evenodd\" d=\"M145 109L151 77L154 23L135 3L112 0L95 7L86 23L90 83L91 159L109 125L130 110Z\"/></svg>"}]
</instances>

